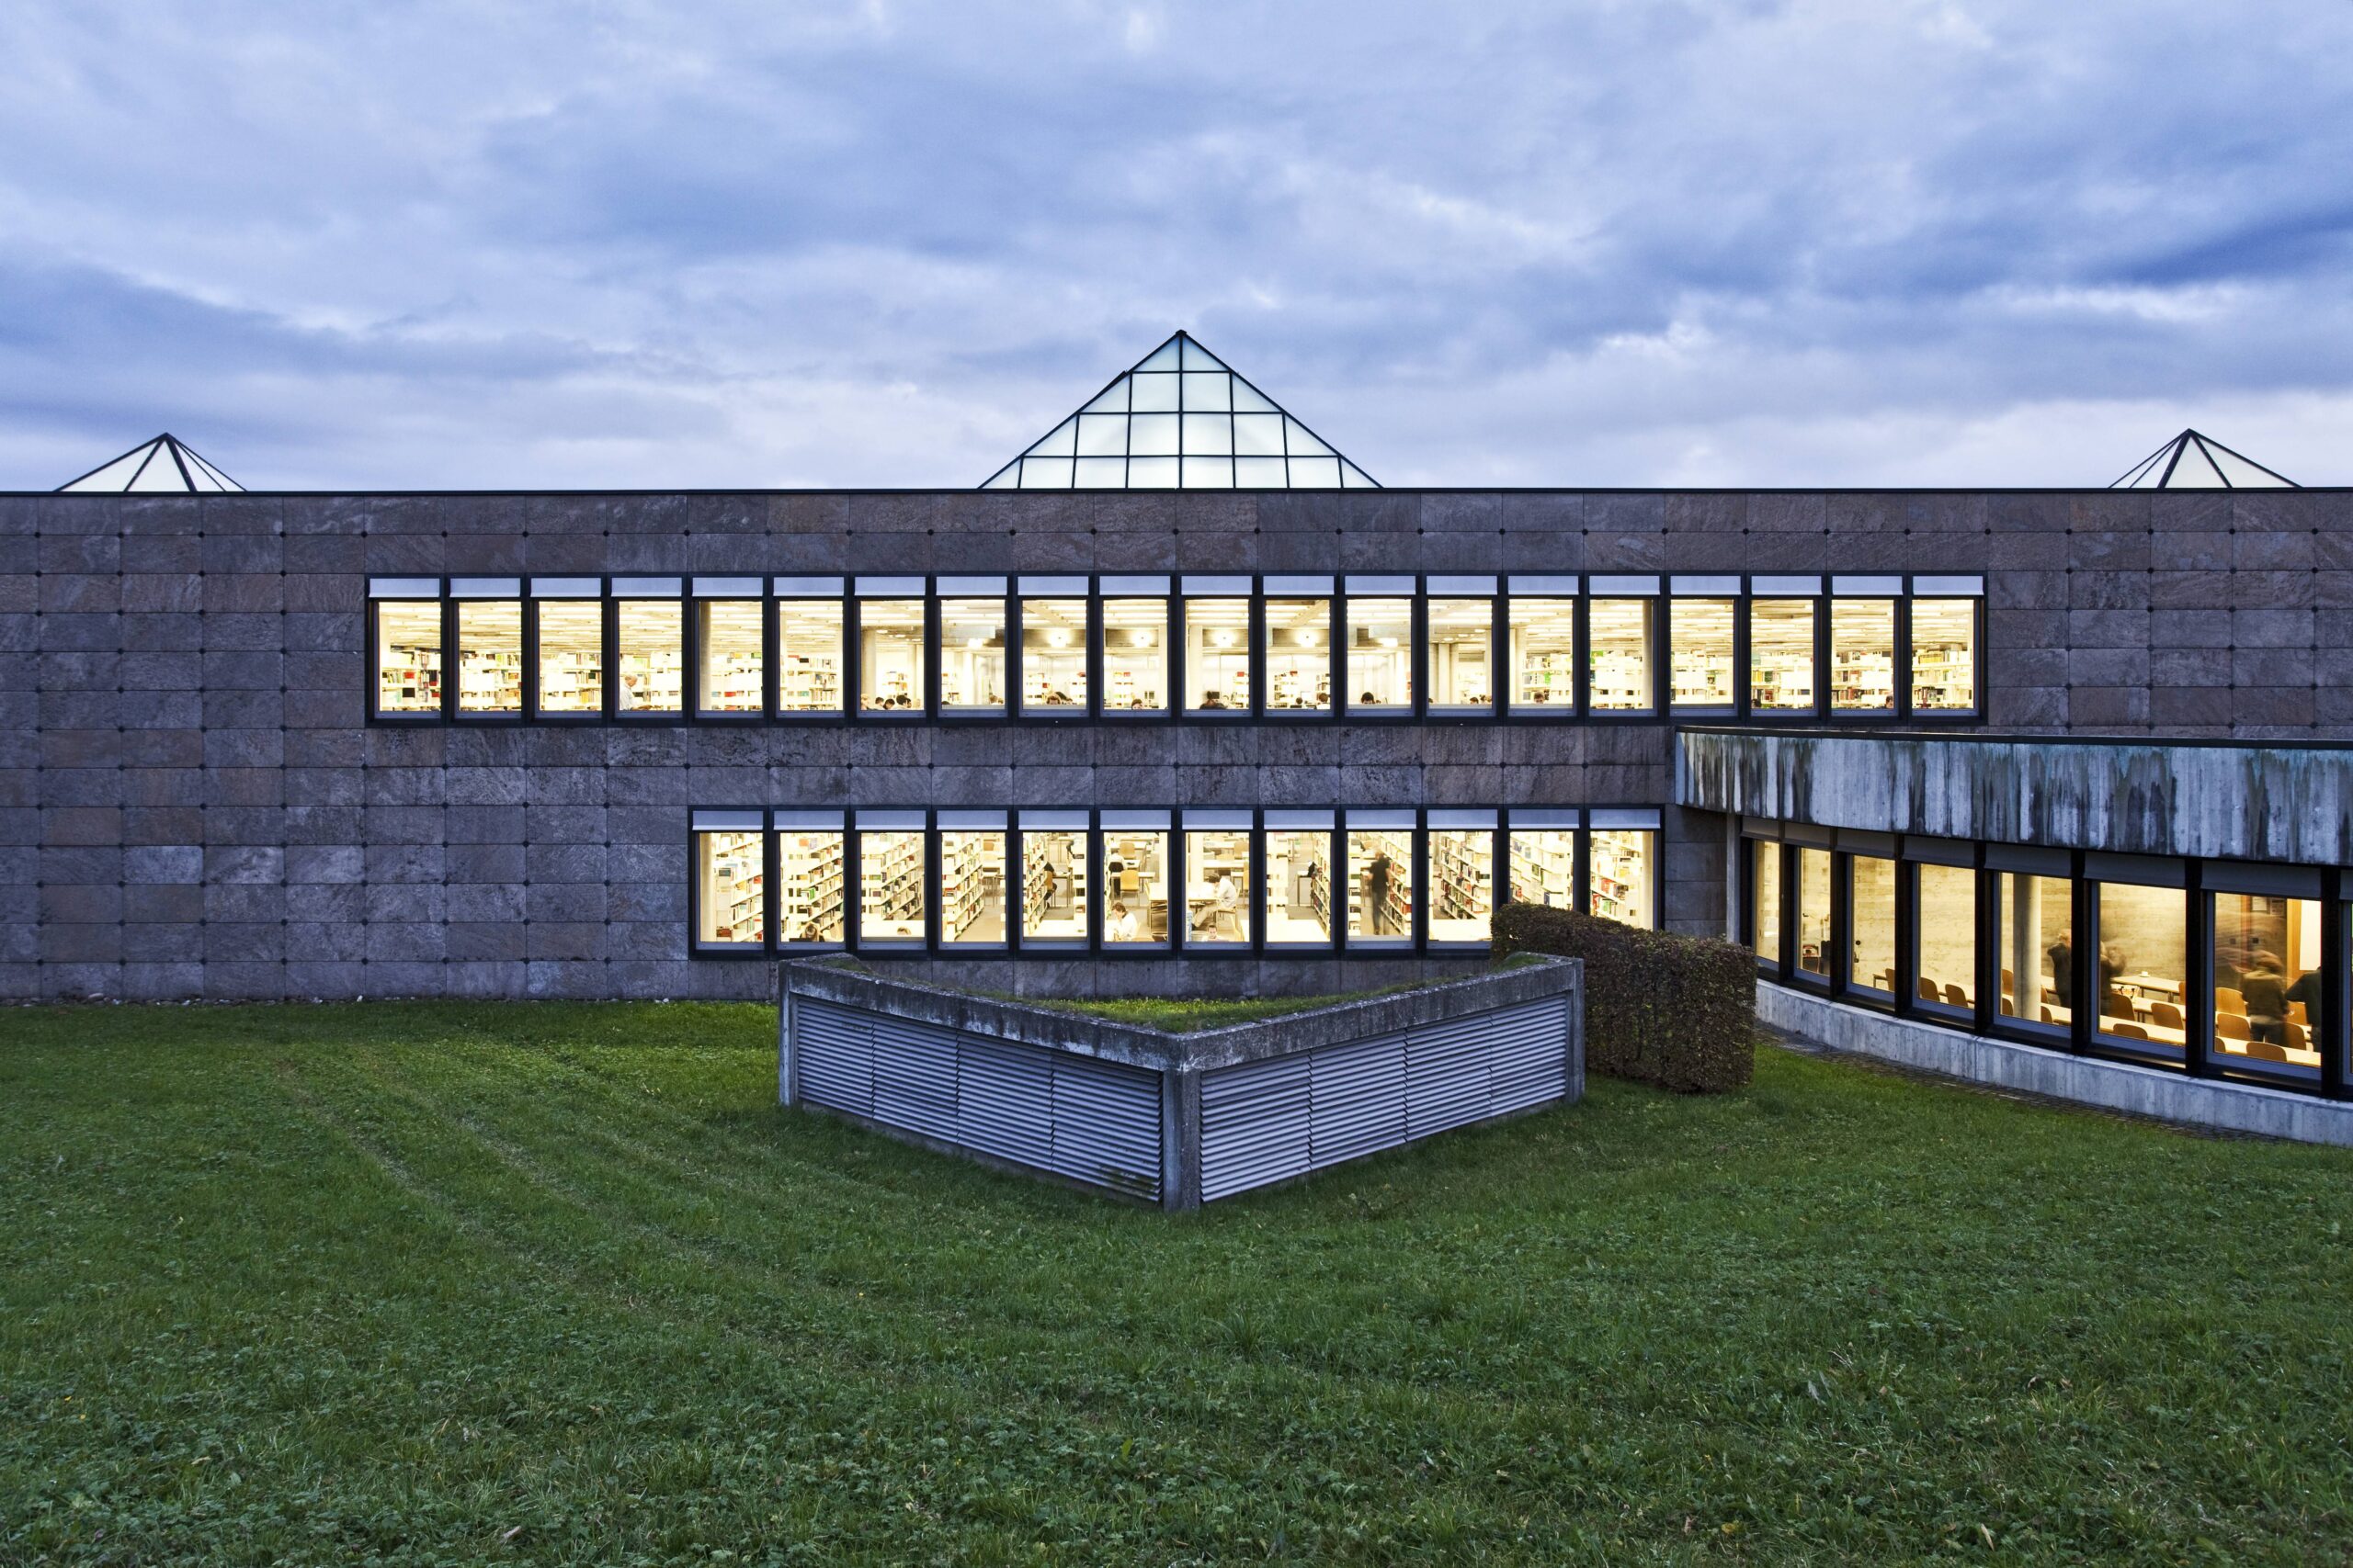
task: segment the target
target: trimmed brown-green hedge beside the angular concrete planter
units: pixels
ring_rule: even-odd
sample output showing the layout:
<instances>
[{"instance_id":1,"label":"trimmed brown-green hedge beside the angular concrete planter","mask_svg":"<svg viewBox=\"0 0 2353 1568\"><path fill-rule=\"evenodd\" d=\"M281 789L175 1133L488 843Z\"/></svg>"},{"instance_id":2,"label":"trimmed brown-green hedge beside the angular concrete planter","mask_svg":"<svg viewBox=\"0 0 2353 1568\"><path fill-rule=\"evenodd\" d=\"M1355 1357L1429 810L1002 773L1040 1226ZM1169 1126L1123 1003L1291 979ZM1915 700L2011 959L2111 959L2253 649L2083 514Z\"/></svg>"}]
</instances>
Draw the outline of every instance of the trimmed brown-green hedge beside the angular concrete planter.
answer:
<instances>
[{"instance_id":1,"label":"trimmed brown-green hedge beside the angular concrete planter","mask_svg":"<svg viewBox=\"0 0 2353 1568\"><path fill-rule=\"evenodd\" d=\"M1758 969L1739 943L1508 903L1494 914L1494 952L1586 961L1593 1072L1678 1093L1727 1093L1755 1070Z\"/></svg>"}]
</instances>

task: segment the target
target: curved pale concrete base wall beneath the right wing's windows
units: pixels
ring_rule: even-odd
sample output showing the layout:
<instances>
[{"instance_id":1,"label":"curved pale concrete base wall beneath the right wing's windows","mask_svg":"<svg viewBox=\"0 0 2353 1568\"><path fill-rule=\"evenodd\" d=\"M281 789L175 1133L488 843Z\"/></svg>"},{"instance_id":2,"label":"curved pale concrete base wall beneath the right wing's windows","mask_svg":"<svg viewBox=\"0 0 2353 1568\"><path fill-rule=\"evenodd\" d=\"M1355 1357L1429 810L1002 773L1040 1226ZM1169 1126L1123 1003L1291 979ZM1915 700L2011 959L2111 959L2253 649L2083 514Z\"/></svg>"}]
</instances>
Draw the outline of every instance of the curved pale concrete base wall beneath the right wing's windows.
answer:
<instances>
[{"instance_id":1,"label":"curved pale concrete base wall beneath the right wing's windows","mask_svg":"<svg viewBox=\"0 0 2353 1568\"><path fill-rule=\"evenodd\" d=\"M2353 1105L2280 1088L2219 1084L2179 1072L2064 1056L1911 1023L1758 980L1758 1018L1777 1030L1922 1072L2120 1110L2226 1133L2353 1147Z\"/></svg>"}]
</instances>

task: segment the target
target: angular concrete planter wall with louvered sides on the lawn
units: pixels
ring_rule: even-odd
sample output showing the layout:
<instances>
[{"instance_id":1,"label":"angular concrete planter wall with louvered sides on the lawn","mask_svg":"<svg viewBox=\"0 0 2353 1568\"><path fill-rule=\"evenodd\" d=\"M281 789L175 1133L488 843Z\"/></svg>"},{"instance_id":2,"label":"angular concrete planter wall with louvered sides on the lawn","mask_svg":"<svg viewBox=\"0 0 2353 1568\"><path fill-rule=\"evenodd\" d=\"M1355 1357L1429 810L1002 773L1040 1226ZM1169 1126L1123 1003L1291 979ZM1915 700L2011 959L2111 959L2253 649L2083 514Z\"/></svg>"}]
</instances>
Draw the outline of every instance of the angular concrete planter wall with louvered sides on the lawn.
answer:
<instances>
[{"instance_id":1,"label":"angular concrete planter wall with louvered sides on the lawn","mask_svg":"<svg viewBox=\"0 0 2353 1568\"><path fill-rule=\"evenodd\" d=\"M1198 1208L1586 1086L1584 966L1167 1034L871 973L781 966L776 1086L911 1143Z\"/></svg>"}]
</instances>

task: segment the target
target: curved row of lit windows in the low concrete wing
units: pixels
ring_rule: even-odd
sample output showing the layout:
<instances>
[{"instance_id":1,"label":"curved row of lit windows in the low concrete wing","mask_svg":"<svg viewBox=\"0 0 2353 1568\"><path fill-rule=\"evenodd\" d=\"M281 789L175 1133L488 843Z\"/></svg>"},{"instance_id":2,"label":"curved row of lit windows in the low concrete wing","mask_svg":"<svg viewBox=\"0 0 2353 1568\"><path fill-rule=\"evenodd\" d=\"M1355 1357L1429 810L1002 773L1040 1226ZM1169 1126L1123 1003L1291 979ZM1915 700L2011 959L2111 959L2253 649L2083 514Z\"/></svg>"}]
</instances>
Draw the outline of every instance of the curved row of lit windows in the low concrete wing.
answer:
<instances>
[{"instance_id":1,"label":"curved row of lit windows in the low concrete wing","mask_svg":"<svg viewBox=\"0 0 2353 1568\"><path fill-rule=\"evenodd\" d=\"M2346 1095L2337 870L1751 825L1779 983L2024 1044ZM1805 842L1784 842L1784 839Z\"/></svg>"}]
</instances>

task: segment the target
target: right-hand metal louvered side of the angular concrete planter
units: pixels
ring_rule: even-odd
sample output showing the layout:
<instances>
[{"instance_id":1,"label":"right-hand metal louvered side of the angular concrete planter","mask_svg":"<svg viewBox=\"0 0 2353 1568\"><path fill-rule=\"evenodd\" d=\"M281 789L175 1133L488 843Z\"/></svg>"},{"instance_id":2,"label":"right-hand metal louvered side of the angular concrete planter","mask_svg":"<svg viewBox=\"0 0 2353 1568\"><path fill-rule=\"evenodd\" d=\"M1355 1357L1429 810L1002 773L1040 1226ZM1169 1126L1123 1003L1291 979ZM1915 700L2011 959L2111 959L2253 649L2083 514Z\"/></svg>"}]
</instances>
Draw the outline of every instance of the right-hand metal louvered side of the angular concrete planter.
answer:
<instances>
[{"instance_id":1,"label":"right-hand metal louvered side of the angular concrete planter","mask_svg":"<svg viewBox=\"0 0 2353 1568\"><path fill-rule=\"evenodd\" d=\"M1219 1067L1200 1079L1200 1197L1249 1192L1569 1093L1569 1004L1518 1006Z\"/></svg>"}]
</instances>

